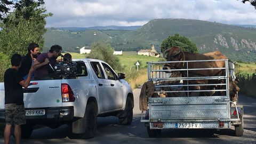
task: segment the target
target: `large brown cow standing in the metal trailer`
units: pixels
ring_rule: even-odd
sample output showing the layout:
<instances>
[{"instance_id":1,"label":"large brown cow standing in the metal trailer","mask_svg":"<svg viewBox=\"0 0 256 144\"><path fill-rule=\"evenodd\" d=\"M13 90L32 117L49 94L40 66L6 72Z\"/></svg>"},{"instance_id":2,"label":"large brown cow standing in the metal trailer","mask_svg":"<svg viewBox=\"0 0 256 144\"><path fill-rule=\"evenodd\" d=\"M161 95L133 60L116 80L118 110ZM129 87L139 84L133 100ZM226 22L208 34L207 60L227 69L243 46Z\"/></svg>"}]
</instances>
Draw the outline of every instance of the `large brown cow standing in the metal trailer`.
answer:
<instances>
[{"instance_id":1,"label":"large brown cow standing in the metal trailer","mask_svg":"<svg viewBox=\"0 0 256 144\"><path fill-rule=\"evenodd\" d=\"M220 52L211 52L206 54L200 53L189 53L183 52L177 46L173 46L163 52L163 56L167 61L185 61L185 60L214 60L214 59L225 59L225 55ZM165 63L163 69L186 69L187 65L185 62ZM204 61L204 62L189 62L188 68L225 68L225 61ZM222 76L225 74L224 69L204 69L204 70L191 70L187 74L186 70L180 71L182 77L202 77L202 76ZM208 83L219 83L218 80L193 80L189 81L188 84L208 84ZM187 81L183 81L183 84L187 84ZM189 90L206 90L207 86L190 86ZM185 86L185 90L187 86ZM199 95L206 95L205 92Z\"/></svg>"}]
</instances>

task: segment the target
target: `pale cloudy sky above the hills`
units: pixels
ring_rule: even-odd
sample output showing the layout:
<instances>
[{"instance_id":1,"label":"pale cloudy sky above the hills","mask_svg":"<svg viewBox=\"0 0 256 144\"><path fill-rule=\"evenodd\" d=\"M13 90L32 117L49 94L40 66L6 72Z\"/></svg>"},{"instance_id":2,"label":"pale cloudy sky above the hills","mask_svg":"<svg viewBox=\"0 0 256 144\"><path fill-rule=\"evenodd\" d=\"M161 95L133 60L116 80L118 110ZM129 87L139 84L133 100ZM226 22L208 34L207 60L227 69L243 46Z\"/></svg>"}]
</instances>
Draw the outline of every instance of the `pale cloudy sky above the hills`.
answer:
<instances>
[{"instance_id":1,"label":"pale cloudy sky above the hills","mask_svg":"<svg viewBox=\"0 0 256 144\"><path fill-rule=\"evenodd\" d=\"M45 0L46 27L142 26L159 18L256 25L256 10L241 0Z\"/></svg>"}]
</instances>

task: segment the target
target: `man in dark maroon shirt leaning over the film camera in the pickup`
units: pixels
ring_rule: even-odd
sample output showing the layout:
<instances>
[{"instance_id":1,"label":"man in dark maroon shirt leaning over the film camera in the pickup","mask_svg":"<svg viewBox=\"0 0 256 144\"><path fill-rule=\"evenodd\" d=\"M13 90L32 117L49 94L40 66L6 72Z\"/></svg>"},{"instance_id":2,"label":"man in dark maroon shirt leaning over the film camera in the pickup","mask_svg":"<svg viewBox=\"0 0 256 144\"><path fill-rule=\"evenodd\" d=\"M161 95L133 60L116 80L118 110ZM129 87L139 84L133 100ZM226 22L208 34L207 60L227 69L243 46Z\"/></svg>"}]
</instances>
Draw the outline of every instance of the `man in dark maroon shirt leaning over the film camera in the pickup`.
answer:
<instances>
[{"instance_id":1,"label":"man in dark maroon shirt leaning over the film camera in the pickup","mask_svg":"<svg viewBox=\"0 0 256 144\"><path fill-rule=\"evenodd\" d=\"M34 66L37 68L34 72L35 80L52 79L49 71L51 71L51 66L57 63L56 59L61 54L61 51L62 47L60 45L53 45L49 52L38 55L34 63Z\"/></svg>"}]
</instances>

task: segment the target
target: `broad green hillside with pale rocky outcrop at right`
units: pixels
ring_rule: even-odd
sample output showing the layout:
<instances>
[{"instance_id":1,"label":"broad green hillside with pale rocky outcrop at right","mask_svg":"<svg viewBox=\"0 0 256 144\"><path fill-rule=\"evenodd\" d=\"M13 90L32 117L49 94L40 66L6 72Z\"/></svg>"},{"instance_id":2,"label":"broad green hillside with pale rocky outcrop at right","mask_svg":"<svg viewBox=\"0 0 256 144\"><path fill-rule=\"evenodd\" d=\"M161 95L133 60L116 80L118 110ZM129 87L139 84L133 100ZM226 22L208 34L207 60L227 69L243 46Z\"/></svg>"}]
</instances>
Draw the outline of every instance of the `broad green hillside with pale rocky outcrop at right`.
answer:
<instances>
[{"instance_id":1,"label":"broad green hillside with pale rocky outcrop at right","mask_svg":"<svg viewBox=\"0 0 256 144\"><path fill-rule=\"evenodd\" d=\"M255 28L191 19L154 19L135 30L48 29L44 35L44 47L60 44L66 51L78 52L75 49L77 46L103 41L110 43L116 50L138 51L149 49L154 44L159 51L163 39L174 34L189 37L201 53L219 50L229 59L256 61Z\"/></svg>"}]
</instances>

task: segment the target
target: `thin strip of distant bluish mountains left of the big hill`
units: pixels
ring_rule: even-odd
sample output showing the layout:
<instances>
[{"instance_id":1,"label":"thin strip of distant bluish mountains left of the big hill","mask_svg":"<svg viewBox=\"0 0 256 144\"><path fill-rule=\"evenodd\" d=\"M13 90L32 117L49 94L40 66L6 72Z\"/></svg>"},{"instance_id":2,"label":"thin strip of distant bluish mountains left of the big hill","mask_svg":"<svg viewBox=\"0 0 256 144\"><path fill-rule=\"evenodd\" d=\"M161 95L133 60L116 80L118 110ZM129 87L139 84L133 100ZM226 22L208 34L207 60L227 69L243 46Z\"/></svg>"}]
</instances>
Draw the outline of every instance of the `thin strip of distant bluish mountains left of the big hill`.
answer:
<instances>
[{"instance_id":1,"label":"thin strip of distant bluish mountains left of the big hill","mask_svg":"<svg viewBox=\"0 0 256 144\"><path fill-rule=\"evenodd\" d=\"M70 30L70 31L84 31L88 29L94 30L135 30L141 26L97 26L97 27L56 27L51 29Z\"/></svg>"}]
</instances>

